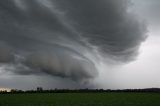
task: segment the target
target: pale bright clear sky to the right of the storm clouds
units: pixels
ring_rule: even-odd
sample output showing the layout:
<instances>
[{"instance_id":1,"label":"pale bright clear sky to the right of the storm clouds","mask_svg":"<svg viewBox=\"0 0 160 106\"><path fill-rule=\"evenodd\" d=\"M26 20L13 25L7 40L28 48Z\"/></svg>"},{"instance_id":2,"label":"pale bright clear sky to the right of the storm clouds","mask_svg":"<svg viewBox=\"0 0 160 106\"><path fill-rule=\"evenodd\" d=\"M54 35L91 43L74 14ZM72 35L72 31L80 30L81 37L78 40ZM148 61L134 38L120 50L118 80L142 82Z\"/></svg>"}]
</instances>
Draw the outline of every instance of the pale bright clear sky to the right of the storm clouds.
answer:
<instances>
[{"instance_id":1,"label":"pale bright clear sky to the right of the storm clouds","mask_svg":"<svg viewBox=\"0 0 160 106\"><path fill-rule=\"evenodd\" d=\"M160 87L160 1L132 2L131 10L147 23L148 38L140 46L135 61L116 67L102 65L101 77L97 81L106 88ZM106 69L109 71L104 71Z\"/></svg>"}]
</instances>

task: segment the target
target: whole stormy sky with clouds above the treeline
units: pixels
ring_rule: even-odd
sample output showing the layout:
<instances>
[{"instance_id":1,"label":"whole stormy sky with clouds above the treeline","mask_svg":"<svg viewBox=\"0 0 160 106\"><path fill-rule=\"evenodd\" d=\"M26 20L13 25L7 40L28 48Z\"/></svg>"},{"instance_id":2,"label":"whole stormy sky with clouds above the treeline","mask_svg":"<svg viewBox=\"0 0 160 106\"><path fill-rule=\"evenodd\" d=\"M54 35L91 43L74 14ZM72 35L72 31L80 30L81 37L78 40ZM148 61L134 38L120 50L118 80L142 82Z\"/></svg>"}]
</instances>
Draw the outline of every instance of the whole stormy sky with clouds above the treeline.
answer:
<instances>
[{"instance_id":1,"label":"whole stormy sky with clouds above the treeline","mask_svg":"<svg viewBox=\"0 0 160 106\"><path fill-rule=\"evenodd\" d=\"M160 87L159 0L1 0L0 88Z\"/></svg>"}]
</instances>

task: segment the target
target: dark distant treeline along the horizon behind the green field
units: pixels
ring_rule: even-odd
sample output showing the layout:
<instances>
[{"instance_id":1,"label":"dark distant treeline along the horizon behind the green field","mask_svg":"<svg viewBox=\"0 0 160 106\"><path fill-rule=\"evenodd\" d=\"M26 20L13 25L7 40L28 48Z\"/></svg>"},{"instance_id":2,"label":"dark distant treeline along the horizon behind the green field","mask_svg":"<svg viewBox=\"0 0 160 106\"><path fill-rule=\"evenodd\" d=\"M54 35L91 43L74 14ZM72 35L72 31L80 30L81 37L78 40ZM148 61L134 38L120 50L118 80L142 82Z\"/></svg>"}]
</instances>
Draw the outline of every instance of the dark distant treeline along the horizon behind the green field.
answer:
<instances>
[{"instance_id":1,"label":"dark distant treeline along the horizon behind the green field","mask_svg":"<svg viewBox=\"0 0 160 106\"><path fill-rule=\"evenodd\" d=\"M107 92L160 92L160 88L146 88L146 89L118 89L118 90L111 90L111 89L50 89L50 90L43 90L41 87L38 87L37 90L17 90L12 89L10 92L7 91L0 91L0 94L17 94L17 93L107 93Z\"/></svg>"}]
</instances>

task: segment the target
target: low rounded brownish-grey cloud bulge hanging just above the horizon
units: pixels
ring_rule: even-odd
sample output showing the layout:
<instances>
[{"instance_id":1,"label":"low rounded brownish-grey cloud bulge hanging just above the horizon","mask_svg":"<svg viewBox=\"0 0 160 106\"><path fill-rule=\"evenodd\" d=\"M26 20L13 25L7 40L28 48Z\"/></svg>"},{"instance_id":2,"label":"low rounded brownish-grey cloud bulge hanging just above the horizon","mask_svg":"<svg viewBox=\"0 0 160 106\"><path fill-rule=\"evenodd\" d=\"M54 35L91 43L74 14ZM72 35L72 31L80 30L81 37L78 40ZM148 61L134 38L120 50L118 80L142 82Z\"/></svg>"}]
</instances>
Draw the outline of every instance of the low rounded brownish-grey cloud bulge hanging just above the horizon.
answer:
<instances>
[{"instance_id":1,"label":"low rounded brownish-grey cloud bulge hanging just above the horizon","mask_svg":"<svg viewBox=\"0 0 160 106\"><path fill-rule=\"evenodd\" d=\"M36 53L27 58L26 64L50 75L70 77L74 80L92 78L97 74L92 62L84 58L78 59L74 53Z\"/></svg>"}]
</instances>

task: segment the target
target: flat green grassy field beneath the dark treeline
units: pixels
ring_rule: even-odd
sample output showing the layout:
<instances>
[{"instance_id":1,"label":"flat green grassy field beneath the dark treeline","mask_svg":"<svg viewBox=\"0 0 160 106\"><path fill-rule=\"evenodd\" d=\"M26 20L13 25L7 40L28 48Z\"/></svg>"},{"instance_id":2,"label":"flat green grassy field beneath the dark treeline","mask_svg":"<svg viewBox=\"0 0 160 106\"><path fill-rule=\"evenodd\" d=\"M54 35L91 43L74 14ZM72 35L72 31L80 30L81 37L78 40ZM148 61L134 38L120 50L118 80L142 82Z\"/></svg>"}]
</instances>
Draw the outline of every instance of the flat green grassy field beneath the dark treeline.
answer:
<instances>
[{"instance_id":1,"label":"flat green grassy field beneath the dark treeline","mask_svg":"<svg viewBox=\"0 0 160 106\"><path fill-rule=\"evenodd\" d=\"M0 94L0 106L160 106L159 93Z\"/></svg>"}]
</instances>

